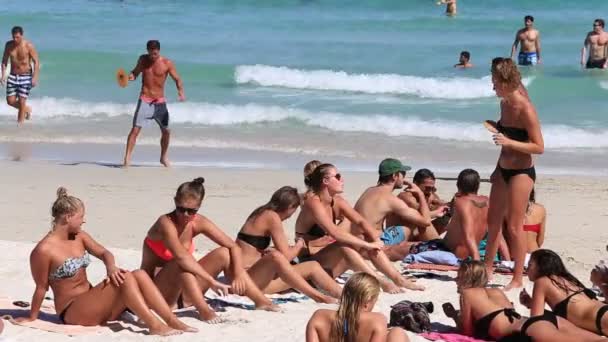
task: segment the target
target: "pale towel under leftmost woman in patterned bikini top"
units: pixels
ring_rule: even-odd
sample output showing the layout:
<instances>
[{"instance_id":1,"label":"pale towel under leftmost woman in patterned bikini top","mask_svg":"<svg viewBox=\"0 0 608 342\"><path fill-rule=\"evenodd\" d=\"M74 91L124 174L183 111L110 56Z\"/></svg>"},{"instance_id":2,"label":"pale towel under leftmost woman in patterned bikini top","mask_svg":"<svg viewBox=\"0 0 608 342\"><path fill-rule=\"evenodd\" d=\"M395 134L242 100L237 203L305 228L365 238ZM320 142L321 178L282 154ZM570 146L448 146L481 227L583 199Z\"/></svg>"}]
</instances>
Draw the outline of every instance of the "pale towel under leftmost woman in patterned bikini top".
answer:
<instances>
[{"instance_id":1,"label":"pale towel under leftmost woman in patterned bikini top","mask_svg":"<svg viewBox=\"0 0 608 342\"><path fill-rule=\"evenodd\" d=\"M40 308L38 319L33 322L17 323L14 318L26 317L30 314L29 308L22 308L13 305L13 301L8 298L0 298L0 316L14 325L20 325L32 329L44 330L68 336L78 336L95 334L103 329L101 326L85 327L82 325L69 325L61 323L61 320L55 313L55 308L52 302L43 302Z\"/></svg>"}]
</instances>

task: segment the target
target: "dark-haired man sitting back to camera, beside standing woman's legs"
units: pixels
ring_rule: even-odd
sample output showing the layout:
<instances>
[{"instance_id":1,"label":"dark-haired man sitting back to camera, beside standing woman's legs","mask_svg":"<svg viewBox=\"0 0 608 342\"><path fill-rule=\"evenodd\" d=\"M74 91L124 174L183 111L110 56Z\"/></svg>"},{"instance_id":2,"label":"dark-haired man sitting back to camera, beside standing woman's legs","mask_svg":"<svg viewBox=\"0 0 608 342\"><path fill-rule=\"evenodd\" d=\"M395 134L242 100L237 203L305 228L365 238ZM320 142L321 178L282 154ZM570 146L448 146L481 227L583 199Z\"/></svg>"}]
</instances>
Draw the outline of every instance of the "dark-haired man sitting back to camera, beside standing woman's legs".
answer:
<instances>
[{"instance_id":1,"label":"dark-haired man sitting back to camera, beside standing woman's legs","mask_svg":"<svg viewBox=\"0 0 608 342\"><path fill-rule=\"evenodd\" d=\"M488 197L477 194L480 177L477 171L465 169L458 175L458 192L452 202L452 219L443 239L424 242L402 242L386 254L391 260L403 260L408 254L440 250L452 252L459 259L479 260L479 243L488 231Z\"/></svg>"}]
</instances>

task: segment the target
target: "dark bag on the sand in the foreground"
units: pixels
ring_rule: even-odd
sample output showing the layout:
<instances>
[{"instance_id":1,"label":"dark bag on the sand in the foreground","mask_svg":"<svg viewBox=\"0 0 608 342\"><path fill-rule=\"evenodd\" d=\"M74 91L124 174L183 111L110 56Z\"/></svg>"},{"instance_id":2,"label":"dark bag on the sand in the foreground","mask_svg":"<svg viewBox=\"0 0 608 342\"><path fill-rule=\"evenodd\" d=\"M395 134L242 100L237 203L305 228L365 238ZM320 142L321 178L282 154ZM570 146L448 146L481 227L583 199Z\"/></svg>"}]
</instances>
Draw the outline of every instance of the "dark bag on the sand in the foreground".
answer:
<instances>
[{"instance_id":1,"label":"dark bag on the sand in the foreground","mask_svg":"<svg viewBox=\"0 0 608 342\"><path fill-rule=\"evenodd\" d=\"M391 306L390 327L401 327L415 333L431 330L429 313L433 312L433 303L417 303L402 300Z\"/></svg>"}]
</instances>

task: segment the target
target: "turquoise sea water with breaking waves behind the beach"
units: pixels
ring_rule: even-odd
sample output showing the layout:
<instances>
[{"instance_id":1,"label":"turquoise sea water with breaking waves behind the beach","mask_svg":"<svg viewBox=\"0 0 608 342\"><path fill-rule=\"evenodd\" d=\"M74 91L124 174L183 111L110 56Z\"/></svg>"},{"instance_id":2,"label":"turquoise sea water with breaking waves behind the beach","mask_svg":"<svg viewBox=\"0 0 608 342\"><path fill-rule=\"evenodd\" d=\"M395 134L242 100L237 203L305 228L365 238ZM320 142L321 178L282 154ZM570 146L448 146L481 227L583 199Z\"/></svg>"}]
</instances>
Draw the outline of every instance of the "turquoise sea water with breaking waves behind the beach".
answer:
<instances>
[{"instance_id":1,"label":"turquoise sea water with breaking waves behind the beach","mask_svg":"<svg viewBox=\"0 0 608 342\"><path fill-rule=\"evenodd\" d=\"M603 174L608 72L582 70L579 56L605 0L461 0L456 18L431 0L10 2L0 34L23 26L42 71L33 122L18 131L0 105L0 139L123 144L139 84L120 89L114 73L159 39L188 97L177 103L168 81L174 146L485 170L497 156L480 124L498 112L489 62L510 53L527 14L544 60L522 69L547 147L539 172ZM461 50L474 69L452 68ZM157 134L147 129L141 143L156 145Z\"/></svg>"}]
</instances>

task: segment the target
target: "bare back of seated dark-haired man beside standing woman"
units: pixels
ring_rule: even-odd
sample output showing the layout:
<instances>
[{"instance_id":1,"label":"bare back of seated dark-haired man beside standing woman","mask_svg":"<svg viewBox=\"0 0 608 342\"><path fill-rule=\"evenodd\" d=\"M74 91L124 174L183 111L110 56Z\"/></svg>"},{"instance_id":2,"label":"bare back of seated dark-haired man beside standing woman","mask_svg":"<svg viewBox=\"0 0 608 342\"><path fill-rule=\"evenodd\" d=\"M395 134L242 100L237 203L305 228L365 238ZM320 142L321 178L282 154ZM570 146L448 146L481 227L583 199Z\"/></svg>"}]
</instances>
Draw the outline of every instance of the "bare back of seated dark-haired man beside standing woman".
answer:
<instances>
[{"instance_id":1,"label":"bare back of seated dark-haired man beside standing woman","mask_svg":"<svg viewBox=\"0 0 608 342\"><path fill-rule=\"evenodd\" d=\"M444 242L458 258L470 256L465 241L465 229L470 230L476 246L486 235L488 201L486 196L473 194L454 197L455 210L446 228Z\"/></svg>"}]
</instances>

